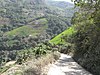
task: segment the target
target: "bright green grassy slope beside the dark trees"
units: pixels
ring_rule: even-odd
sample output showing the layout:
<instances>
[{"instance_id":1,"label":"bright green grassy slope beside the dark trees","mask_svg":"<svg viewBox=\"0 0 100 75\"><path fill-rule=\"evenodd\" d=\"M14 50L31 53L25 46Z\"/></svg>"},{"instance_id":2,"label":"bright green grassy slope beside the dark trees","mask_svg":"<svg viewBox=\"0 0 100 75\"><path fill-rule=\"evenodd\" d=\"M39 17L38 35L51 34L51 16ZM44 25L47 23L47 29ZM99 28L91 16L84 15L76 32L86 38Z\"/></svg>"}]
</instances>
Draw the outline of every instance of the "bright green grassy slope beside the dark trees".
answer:
<instances>
[{"instance_id":1,"label":"bright green grassy slope beside the dark trees","mask_svg":"<svg viewBox=\"0 0 100 75\"><path fill-rule=\"evenodd\" d=\"M49 42L54 43L54 44L64 44L66 42L64 39L62 39L62 36L70 36L70 35L74 34L75 32L76 31L74 29L74 26L72 26L72 27L66 29L65 31L63 31L61 34L54 37L53 39L51 39Z\"/></svg>"}]
</instances>

